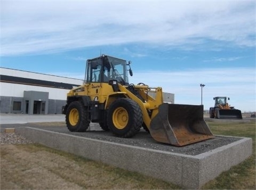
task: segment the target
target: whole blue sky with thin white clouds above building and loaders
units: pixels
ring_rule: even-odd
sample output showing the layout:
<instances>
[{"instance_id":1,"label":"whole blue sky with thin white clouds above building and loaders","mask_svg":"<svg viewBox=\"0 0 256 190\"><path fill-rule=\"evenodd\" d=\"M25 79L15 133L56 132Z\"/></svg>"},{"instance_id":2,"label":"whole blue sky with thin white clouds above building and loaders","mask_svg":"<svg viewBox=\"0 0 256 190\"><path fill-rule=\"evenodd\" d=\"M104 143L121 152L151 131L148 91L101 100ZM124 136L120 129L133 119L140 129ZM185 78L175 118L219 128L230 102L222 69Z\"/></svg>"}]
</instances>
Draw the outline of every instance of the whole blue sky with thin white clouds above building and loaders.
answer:
<instances>
[{"instance_id":1,"label":"whole blue sky with thin white clouds above building and loaders","mask_svg":"<svg viewBox=\"0 0 256 190\"><path fill-rule=\"evenodd\" d=\"M86 60L106 54L177 104L199 105L203 92L205 110L227 96L256 111L255 11L255 1L2 0L0 66L84 79Z\"/></svg>"}]
</instances>

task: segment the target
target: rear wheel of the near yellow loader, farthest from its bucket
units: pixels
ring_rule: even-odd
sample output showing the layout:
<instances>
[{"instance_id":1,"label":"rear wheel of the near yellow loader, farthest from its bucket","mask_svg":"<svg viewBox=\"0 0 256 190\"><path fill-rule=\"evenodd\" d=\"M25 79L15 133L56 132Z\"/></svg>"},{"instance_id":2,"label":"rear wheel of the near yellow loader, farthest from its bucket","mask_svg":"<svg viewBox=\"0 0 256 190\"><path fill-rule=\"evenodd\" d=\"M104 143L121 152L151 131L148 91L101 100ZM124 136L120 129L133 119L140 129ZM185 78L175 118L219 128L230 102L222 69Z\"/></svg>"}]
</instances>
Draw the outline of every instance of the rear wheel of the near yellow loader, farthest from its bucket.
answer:
<instances>
[{"instance_id":1,"label":"rear wheel of the near yellow loader, farthest from its bucket","mask_svg":"<svg viewBox=\"0 0 256 190\"><path fill-rule=\"evenodd\" d=\"M68 105L66 113L66 125L71 132L85 132L90 126L87 120L88 111L82 102L75 101Z\"/></svg>"}]
</instances>

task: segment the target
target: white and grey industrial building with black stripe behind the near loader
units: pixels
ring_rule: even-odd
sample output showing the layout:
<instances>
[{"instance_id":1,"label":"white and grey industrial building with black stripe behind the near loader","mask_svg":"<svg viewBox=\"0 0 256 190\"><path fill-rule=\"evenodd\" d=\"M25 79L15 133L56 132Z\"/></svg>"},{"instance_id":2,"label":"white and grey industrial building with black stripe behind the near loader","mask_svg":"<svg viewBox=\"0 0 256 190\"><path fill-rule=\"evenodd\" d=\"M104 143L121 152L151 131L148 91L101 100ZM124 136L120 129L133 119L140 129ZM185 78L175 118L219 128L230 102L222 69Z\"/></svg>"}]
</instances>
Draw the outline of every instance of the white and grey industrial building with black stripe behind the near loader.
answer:
<instances>
[{"instance_id":1,"label":"white and grey industrial building with black stripe behind the near loader","mask_svg":"<svg viewBox=\"0 0 256 190\"><path fill-rule=\"evenodd\" d=\"M0 67L0 113L61 114L69 90L83 82ZM174 103L174 94L164 93L163 97L164 102Z\"/></svg>"}]
</instances>

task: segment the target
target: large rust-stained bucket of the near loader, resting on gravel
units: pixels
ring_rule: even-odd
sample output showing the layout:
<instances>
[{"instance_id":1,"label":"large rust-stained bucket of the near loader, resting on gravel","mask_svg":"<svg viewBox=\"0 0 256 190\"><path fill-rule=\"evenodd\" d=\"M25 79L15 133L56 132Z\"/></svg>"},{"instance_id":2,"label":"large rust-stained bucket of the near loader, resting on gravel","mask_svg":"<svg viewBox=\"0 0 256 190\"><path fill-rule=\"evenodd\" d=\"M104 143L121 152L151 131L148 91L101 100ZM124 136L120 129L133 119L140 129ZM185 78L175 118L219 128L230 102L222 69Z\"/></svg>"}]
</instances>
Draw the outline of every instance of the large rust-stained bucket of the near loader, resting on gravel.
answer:
<instances>
[{"instance_id":1,"label":"large rust-stained bucket of the near loader, resting on gravel","mask_svg":"<svg viewBox=\"0 0 256 190\"><path fill-rule=\"evenodd\" d=\"M158 142L183 146L213 138L203 118L203 105L159 105L151 120L150 135Z\"/></svg>"}]
</instances>

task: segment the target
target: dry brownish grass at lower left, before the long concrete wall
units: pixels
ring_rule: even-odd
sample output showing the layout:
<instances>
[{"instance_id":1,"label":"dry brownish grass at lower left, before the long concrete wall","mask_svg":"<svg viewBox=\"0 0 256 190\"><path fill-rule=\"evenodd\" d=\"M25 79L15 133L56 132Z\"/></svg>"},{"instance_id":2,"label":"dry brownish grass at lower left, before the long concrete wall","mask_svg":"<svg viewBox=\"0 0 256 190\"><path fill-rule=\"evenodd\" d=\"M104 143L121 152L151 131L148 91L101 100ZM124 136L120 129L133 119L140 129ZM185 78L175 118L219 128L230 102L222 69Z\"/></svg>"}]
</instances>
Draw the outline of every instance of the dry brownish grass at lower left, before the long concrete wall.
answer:
<instances>
[{"instance_id":1,"label":"dry brownish grass at lower left, before the long concrete wall","mask_svg":"<svg viewBox=\"0 0 256 190\"><path fill-rule=\"evenodd\" d=\"M177 189L165 181L51 148L1 146L1 189Z\"/></svg>"}]
</instances>

